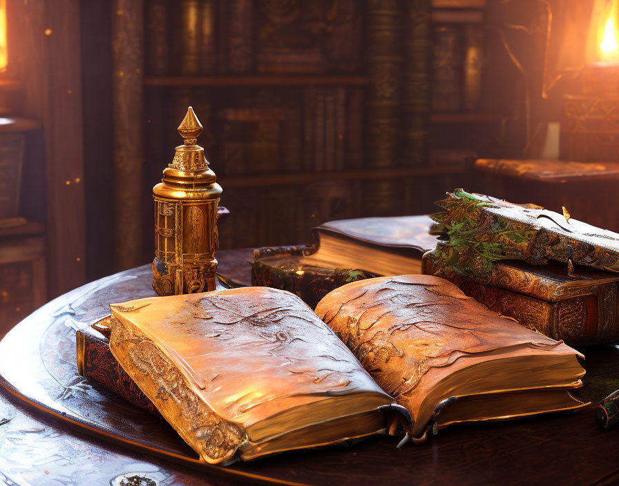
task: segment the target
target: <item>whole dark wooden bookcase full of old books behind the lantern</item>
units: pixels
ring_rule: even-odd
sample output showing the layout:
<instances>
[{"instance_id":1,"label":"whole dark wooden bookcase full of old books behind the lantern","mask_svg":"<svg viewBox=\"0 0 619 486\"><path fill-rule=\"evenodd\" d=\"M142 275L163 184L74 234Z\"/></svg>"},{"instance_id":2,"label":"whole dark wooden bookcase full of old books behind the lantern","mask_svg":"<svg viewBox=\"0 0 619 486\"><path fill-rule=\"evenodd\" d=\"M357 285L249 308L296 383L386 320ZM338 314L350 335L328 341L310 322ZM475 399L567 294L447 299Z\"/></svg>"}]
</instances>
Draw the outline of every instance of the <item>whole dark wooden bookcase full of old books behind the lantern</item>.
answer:
<instances>
[{"instance_id":1,"label":"whole dark wooden bookcase full of old books behind the lantern","mask_svg":"<svg viewBox=\"0 0 619 486\"><path fill-rule=\"evenodd\" d=\"M136 59L145 66L144 201L180 143L174 128L188 105L204 125L199 143L224 188L220 204L231 211L223 248L307 242L307 229L327 220L425 213L446 189L465 184L462 159L433 165L430 153L477 150L467 130L483 132L504 117L470 101L481 97L480 72L459 88L457 106L432 106L464 83L452 76L434 93L435 45L443 25L463 45L484 30L485 1L337 4L144 0L143 18L126 26L145 39ZM479 35L472 38L479 48ZM479 68L449 56L452 71L466 62ZM130 116L124 126L133 126ZM444 131L464 133L464 146L443 147ZM135 147L138 136L127 143ZM150 208L142 213L151 217ZM150 256L148 224L142 233Z\"/></svg>"}]
</instances>

